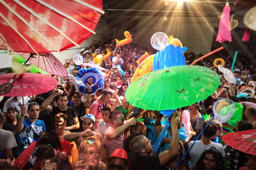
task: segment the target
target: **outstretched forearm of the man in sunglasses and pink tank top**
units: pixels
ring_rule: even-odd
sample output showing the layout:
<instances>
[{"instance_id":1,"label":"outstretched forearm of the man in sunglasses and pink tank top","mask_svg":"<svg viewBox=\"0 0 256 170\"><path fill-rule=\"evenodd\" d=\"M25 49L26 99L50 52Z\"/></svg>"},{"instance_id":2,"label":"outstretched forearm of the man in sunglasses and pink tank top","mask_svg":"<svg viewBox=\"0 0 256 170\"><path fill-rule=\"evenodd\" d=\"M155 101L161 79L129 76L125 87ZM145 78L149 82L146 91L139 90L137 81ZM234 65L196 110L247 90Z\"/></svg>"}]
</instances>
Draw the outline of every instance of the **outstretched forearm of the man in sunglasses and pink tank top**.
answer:
<instances>
[{"instance_id":1,"label":"outstretched forearm of the man in sunglasses and pink tank top","mask_svg":"<svg viewBox=\"0 0 256 170\"><path fill-rule=\"evenodd\" d=\"M137 123L137 119L135 118L131 118L129 120L127 120L127 122L120 126L117 127L115 130L111 131L111 132L107 132L106 133L106 138L108 140L114 140L116 139L116 136L120 135L125 129L127 129L128 127L135 125Z\"/></svg>"}]
</instances>

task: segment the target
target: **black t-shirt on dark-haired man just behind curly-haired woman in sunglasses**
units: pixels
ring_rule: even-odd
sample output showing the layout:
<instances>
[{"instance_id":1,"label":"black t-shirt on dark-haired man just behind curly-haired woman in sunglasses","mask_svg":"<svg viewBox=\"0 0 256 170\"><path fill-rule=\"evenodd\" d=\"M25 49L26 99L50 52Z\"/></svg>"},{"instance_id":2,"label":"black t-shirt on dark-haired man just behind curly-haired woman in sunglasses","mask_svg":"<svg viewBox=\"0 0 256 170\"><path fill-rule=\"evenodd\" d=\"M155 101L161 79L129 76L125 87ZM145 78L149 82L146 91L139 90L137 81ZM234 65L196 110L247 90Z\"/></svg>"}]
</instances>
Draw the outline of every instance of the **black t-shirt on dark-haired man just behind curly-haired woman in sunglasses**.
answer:
<instances>
[{"instance_id":1,"label":"black t-shirt on dark-haired man just behind curly-haired woman in sunglasses","mask_svg":"<svg viewBox=\"0 0 256 170\"><path fill-rule=\"evenodd\" d=\"M73 126L74 125L73 118L77 117L77 113L76 113L75 108L67 106L66 111L61 111L59 106L52 106L53 116L55 116L58 113L64 113L65 115L67 115L67 126Z\"/></svg>"}]
</instances>

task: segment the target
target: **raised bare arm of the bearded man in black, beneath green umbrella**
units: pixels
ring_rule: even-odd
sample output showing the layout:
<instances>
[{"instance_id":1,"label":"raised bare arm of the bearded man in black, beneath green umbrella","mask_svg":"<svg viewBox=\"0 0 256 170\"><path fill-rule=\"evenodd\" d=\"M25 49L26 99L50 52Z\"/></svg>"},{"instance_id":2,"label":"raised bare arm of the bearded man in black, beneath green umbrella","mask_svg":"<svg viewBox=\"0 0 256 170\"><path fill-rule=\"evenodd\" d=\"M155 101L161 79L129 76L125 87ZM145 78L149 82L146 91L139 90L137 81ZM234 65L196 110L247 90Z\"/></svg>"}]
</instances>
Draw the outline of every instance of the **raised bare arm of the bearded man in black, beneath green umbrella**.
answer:
<instances>
[{"instance_id":1,"label":"raised bare arm of the bearded man in black, beneath green umbrella","mask_svg":"<svg viewBox=\"0 0 256 170\"><path fill-rule=\"evenodd\" d=\"M180 117L178 113L174 113L171 121L172 126L172 139L169 145L169 150L160 153L159 161L161 165L164 165L168 162L172 157L176 156L178 153L178 146L179 146L179 137L178 137L178 124L180 123Z\"/></svg>"}]
</instances>

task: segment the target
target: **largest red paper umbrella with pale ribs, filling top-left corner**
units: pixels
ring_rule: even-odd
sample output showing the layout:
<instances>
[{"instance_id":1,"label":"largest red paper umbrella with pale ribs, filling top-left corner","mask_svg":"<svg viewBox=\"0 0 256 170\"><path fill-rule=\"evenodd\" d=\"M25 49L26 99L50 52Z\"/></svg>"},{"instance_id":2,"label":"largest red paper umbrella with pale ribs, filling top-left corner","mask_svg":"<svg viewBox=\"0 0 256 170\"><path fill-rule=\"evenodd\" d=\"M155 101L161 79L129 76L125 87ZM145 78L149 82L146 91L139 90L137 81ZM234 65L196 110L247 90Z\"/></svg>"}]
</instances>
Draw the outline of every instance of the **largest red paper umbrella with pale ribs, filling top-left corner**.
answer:
<instances>
[{"instance_id":1,"label":"largest red paper umbrella with pale ribs, filling top-left corner","mask_svg":"<svg viewBox=\"0 0 256 170\"><path fill-rule=\"evenodd\" d=\"M33 54L80 47L104 14L102 0L1 0L0 8L0 49Z\"/></svg>"}]
</instances>

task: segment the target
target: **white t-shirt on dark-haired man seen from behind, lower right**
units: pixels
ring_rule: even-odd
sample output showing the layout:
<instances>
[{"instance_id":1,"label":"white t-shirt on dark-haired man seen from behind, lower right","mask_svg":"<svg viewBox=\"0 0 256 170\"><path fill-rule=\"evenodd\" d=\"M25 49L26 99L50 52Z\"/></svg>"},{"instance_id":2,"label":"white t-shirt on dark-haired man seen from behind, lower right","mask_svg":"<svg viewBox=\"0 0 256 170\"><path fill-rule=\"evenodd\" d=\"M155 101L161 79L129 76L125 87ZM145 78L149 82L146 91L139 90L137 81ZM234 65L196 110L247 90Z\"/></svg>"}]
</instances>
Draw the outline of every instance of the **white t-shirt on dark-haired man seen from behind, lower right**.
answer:
<instances>
[{"instance_id":1,"label":"white t-shirt on dark-haired man seen from behind, lower right","mask_svg":"<svg viewBox=\"0 0 256 170\"><path fill-rule=\"evenodd\" d=\"M193 142L194 141L190 141L188 143L189 147L192 145ZM196 141L194 146L189 151L189 155L190 155L189 170L192 170L193 167L195 167L195 165L196 165L197 161L200 159L202 153L204 153L204 150L206 150L209 147L215 147L216 149L218 149L218 151L221 152L222 156L225 155L224 147L222 146L222 144L212 142L208 145L205 145L201 141Z\"/></svg>"}]
</instances>

